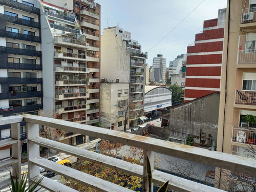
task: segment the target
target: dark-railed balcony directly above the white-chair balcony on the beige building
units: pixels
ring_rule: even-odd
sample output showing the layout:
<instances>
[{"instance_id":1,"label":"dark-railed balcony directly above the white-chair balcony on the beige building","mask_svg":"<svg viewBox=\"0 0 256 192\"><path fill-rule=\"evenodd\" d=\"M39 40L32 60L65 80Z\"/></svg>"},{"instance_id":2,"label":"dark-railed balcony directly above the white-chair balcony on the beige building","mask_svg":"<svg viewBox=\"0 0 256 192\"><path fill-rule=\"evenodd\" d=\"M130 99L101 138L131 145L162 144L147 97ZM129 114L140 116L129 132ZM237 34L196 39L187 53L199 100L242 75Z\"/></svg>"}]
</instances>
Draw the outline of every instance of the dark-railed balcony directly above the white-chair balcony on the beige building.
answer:
<instances>
[{"instance_id":1,"label":"dark-railed balcony directly above the white-chair balcony on the beige building","mask_svg":"<svg viewBox=\"0 0 256 192\"><path fill-rule=\"evenodd\" d=\"M256 91L236 90L234 104L243 108L255 109L256 106Z\"/></svg>"}]
</instances>

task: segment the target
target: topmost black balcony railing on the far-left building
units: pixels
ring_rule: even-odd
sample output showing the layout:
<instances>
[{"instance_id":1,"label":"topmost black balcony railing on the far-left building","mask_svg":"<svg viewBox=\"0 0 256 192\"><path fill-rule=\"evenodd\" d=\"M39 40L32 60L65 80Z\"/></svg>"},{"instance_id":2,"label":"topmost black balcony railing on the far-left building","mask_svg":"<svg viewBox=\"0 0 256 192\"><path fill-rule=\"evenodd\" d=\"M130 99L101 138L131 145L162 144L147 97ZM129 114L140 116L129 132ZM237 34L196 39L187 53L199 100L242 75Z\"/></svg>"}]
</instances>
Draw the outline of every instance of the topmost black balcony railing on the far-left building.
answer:
<instances>
[{"instance_id":1,"label":"topmost black balcony railing on the far-left building","mask_svg":"<svg viewBox=\"0 0 256 192\"><path fill-rule=\"evenodd\" d=\"M34 14L40 15L40 9L35 8L35 7L31 7L29 5L25 5L25 4L22 4L22 3L14 2L12 0L0 0L0 4L1 5L6 5L6 6L9 6L9 7L13 7L15 9L27 11L29 13L34 13Z\"/></svg>"}]
</instances>

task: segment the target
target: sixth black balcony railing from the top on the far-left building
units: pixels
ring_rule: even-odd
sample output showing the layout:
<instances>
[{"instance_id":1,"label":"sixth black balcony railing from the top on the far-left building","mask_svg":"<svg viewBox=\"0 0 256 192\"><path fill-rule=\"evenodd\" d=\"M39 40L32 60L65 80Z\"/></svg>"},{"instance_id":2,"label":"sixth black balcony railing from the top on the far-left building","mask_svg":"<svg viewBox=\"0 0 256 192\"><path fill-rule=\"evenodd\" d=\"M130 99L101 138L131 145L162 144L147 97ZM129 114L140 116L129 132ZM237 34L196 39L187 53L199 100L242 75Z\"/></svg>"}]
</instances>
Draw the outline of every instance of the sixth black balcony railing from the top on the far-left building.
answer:
<instances>
[{"instance_id":1,"label":"sixth black balcony railing from the top on the far-left building","mask_svg":"<svg viewBox=\"0 0 256 192\"><path fill-rule=\"evenodd\" d=\"M15 77L2 77L0 78L1 84L27 84L27 83L42 83L42 78L15 78Z\"/></svg>"}]
</instances>

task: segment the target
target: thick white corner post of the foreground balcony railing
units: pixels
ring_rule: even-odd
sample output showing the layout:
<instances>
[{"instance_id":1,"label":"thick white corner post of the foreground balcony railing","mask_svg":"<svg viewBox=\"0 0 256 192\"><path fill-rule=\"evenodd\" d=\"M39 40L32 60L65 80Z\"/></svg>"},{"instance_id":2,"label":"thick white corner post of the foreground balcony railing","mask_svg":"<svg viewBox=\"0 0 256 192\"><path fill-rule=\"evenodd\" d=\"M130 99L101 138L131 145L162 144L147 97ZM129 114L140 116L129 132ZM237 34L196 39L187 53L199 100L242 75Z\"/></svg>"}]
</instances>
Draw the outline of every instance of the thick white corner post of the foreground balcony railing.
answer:
<instances>
[{"instance_id":1,"label":"thick white corner post of the foreground balcony railing","mask_svg":"<svg viewBox=\"0 0 256 192\"><path fill-rule=\"evenodd\" d=\"M27 138L28 138L28 141L30 139L38 137L38 136L39 136L39 126L38 126L38 124L27 123ZM38 177L40 176L39 167L36 166L36 165L33 165L30 162L35 157L39 157L39 145L28 142L29 184L33 183L31 181L31 178L36 177L36 176L38 176Z\"/></svg>"}]
</instances>

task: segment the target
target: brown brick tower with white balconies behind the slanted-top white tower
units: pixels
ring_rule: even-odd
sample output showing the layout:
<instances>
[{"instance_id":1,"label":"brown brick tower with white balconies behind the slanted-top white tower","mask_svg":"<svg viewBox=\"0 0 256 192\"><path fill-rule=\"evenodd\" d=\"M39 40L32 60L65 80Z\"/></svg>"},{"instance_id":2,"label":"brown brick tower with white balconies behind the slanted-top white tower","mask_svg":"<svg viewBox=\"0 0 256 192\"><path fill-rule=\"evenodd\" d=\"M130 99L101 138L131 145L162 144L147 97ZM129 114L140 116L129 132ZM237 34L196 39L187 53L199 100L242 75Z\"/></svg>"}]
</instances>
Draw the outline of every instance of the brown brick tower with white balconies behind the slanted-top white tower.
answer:
<instances>
[{"instance_id":1,"label":"brown brick tower with white balconies behind the slanted-top white tower","mask_svg":"<svg viewBox=\"0 0 256 192\"><path fill-rule=\"evenodd\" d=\"M99 122L100 95L100 5L95 3L94 0L49 0L47 2L72 10L71 12L75 13L76 23L80 25L80 32L86 36L86 41L89 44L86 51L86 67L90 70L87 75L89 78L87 103L90 104L91 109L87 113L90 117L88 124L97 123Z\"/></svg>"}]
</instances>

